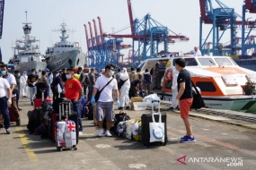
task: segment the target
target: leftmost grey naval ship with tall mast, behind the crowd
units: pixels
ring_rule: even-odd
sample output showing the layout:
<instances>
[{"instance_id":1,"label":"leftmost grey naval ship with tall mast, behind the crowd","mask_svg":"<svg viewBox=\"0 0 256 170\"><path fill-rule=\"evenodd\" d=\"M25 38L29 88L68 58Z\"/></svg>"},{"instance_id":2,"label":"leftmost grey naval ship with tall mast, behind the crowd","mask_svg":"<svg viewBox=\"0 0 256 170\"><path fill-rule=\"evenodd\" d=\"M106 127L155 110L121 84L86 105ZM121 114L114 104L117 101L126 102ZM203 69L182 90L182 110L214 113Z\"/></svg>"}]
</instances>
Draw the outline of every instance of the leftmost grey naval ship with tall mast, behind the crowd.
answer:
<instances>
[{"instance_id":1,"label":"leftmost grey naval ship with tall mast, behind the crowd","mask_svg":"<svg viewBox=\"0 0 256 170\"><path fill-rule=\"evenodd\" d=\"M31 69L40 72L46 68L47 64L44 55L40 54L39 45L35 43L39 40L31 36L31 22L22 22L22 24L24 24L22 29L25 36L23 39L15 41L14 56L9 63L13 63L20 72L26 71L30 74ZM16 50L18 51L17 54Z\"/></svg>"}]
</instances>

